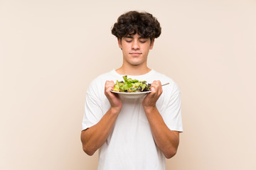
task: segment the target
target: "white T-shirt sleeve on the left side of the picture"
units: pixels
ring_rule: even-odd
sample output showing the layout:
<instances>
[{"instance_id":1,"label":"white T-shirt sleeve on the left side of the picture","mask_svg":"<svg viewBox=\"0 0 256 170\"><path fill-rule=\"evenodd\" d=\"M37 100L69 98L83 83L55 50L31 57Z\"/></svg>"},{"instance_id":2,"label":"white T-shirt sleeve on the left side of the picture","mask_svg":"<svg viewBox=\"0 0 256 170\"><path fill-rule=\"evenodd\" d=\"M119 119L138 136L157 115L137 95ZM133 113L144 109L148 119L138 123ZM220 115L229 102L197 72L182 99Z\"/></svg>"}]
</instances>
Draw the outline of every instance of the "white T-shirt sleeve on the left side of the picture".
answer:
<instances>
[{"instance_id":1,"label":"white T-shirt sleeve on the left side of the picture","mask_svg":"<svg viewBox=\"0 0 256 170\"><path fill-rule=\"evenodd\" d=\"M82 130L97 124L102 118L102 102L97 95L96 86L90 84L85 97L85 111L82 119Z\"/></svg>"}]
</instances>

